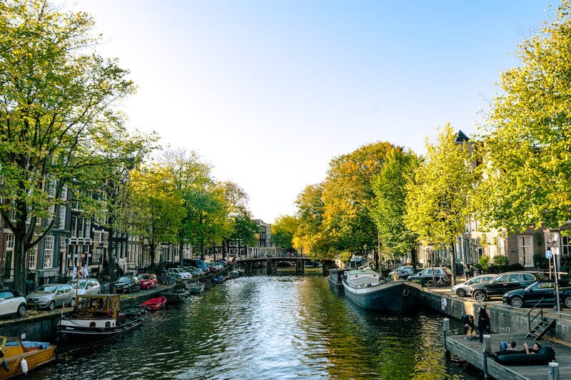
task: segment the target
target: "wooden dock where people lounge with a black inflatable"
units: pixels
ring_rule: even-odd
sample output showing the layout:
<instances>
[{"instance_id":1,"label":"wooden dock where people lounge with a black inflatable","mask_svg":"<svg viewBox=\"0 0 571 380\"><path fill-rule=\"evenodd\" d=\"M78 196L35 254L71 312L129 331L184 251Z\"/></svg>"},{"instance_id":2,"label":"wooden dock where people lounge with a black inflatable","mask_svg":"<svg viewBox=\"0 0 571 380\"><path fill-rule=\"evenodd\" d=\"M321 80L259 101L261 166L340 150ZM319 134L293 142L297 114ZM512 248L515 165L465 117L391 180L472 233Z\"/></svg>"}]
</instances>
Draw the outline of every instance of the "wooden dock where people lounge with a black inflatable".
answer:
<instances>
[{"instance_id":1,"label":"wooden dock where people lounge with a black inflatable","mask_svg":"<svg viewBox=\"0 0 571 380\"><path fill-rule=\"evenodd\" d=\"M491 334L490 348L491 351L500 350L500 342L517 342L520 347L524 342L533 345L532 338L525 337L525 334ZM571 347L552 342L549 340L541 340L542 346L551 347L555 351L555 362L559 364L559 377L554 379L571 379ZM487 356L484 360L484 344L480 343L477 337L473 339L464 339L463 335L445 334L445 349L447 354L455 354L461 359L475 366L484 372L488 378L498 380L542 380L550 378L550 366L532 365L532 366L506 366L499 364L491 357Z\"/></svg>"}]
</instances>

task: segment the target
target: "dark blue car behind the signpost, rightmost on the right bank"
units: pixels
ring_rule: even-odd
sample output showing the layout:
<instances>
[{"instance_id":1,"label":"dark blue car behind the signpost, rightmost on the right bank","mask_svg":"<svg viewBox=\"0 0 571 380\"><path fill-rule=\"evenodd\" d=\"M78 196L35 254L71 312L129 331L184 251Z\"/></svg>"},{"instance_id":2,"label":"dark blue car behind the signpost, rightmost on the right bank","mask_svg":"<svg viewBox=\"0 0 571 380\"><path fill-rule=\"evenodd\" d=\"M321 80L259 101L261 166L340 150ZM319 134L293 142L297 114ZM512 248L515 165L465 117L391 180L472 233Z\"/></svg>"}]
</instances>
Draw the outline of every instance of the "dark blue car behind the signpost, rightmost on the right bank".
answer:
<instances>
[{"instance_id":1,"label":"dark blue car behind the signpost, rightmost on the right bank","mask_svg":"<svg viewBox=\"0 0 571 380\"><path fill-rule=\"evenodd\" d=\"M502 297L504 304L509 304L512 307L532 307L540 300L542 306L555 305L555 282L537 281L525 289L510 290ZM559 302L571 308L571 288L562 287L559 289Z\"/></svg>"}]
</instances>

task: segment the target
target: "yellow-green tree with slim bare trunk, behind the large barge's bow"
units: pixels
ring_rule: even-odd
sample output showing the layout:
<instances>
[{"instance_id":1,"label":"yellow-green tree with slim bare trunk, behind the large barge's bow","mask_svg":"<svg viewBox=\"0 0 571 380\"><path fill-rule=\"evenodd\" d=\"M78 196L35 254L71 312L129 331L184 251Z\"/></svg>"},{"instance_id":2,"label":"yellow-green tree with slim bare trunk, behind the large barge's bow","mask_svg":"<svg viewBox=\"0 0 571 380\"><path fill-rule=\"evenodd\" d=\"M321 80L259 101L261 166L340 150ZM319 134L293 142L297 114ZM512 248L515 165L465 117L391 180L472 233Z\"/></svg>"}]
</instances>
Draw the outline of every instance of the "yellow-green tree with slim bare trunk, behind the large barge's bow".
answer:
<instances>
[{"instance_id":1,"label":"yellow-green tree with slim bare trunk, behind the large barge's bow","mask_svg":"<svg viewBox=\"0 0 571 380\"><path fill-rule=\"evenodd\" d=\"M455 284L455 242L464 232L470 190L475 186L467 142L457 142L450 124L441 128L438 142L427 141L423 165L407 185L405 225L425 244L450 247Z\"/></svg>"}]
</instances>

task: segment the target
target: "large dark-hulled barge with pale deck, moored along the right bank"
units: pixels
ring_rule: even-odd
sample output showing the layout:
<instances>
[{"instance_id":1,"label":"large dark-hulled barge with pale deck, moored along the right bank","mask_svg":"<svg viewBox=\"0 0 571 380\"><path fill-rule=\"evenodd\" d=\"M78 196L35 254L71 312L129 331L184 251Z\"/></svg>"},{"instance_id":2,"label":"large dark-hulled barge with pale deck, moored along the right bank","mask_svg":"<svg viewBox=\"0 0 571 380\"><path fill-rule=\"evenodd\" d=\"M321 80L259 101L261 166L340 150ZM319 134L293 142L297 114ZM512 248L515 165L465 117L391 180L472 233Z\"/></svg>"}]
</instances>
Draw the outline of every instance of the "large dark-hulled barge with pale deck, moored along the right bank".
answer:
<instances>
[{"instance_id":1,"label":"large dark-hulled barge with pale deck, moored along the right bank","mask_svg":"<svg viewBox=\"0 0 571 380\"><path fill-rule=\"evenodd\" d=\"M345 294L364 309L406 312L416 309L422 287L407 280L381 279L373 269L353 269L343 277Z\"/></svg>"}]
</instances>

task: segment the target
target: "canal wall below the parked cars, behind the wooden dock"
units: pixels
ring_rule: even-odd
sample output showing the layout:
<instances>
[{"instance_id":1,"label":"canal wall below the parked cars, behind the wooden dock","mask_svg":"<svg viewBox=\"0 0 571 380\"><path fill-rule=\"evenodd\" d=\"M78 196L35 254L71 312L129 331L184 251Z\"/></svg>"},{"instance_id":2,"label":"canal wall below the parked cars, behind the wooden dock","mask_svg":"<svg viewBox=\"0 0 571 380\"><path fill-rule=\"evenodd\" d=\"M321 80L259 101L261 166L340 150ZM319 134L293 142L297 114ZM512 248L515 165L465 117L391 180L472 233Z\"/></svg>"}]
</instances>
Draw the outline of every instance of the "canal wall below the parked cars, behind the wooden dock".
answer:
<instances>
[{"instance_id":1,"label":"canal wall below the parked cars, behind the wooden dock","mask_svg":"<svg viewBox=\"0 0 571 380\"><path fill-rule=\"evenodd\" d=\"M421 293L420 304L458 320L462 314L476 316L477 309L480 307L480 302L475 300L460 298L453 294L431 292L426 289ZM492 302L487 302L487 308L490 309L492 316L490 319L492 322L492 333L527 334L529 332L530 323L527 317L529 309L520 310ZM547 336L571 342L571 318L557 317L553 311L547 312L547 309L544 309L544 312L544 317L555 319L555 327L547 332ZM531 317L533 318L534 315ZM532 322L532 327L535 327L535 324L539 322L538 319L536 319L535 323ZM475 320L477 321L477 318Z\"/></svg>"}]
</instances>

